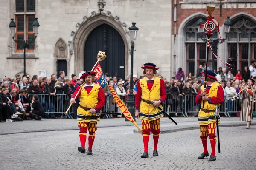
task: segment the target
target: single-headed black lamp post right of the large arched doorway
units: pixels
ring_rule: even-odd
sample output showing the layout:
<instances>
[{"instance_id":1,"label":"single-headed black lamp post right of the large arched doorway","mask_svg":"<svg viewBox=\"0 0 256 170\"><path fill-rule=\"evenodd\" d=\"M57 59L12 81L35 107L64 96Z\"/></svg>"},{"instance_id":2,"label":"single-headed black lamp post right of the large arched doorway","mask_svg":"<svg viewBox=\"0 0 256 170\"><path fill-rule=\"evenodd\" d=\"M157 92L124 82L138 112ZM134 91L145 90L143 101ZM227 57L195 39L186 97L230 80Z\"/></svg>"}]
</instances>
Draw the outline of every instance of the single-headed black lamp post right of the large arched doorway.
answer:
<instances>
[{"instance_id":1,"label":"single-headed black lamp post right of the large arched doorway","mask_svg":"<svg viewBox=\"0 0 256 170\"><path fill-rule=\"evenodd\" d=\"M130 93L129 93L129 98L127 101L127 108L131 113L131 116L134 118L135 117L135 111L134 111L134 95L133 95L133 52L134 52L134 41L136 40L137 37L137 32L139 28L135 26L136 23L132 23L132 26L129 27L129 36L131 40L131 77L130 77ZM125 121L128 121L128 119L125 119ZM134 118L134 121L136 119Z\"/></svg>"}]
</instances>

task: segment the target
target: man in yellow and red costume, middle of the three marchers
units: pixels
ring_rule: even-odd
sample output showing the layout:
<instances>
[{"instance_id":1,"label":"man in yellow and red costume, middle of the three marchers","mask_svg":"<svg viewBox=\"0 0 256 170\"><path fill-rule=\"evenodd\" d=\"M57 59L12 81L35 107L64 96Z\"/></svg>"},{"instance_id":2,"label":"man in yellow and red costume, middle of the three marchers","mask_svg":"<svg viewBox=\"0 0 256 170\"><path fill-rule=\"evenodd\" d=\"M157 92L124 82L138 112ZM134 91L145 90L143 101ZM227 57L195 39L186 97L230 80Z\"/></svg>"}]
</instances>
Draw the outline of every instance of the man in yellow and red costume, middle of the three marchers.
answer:
<instances>
[{"instance_id":1,"label":"man in yellow and red costume, middle of the three marchers","mask_svg":"<svg viewBox=\"0 0 256 170\"><path fill-rule=\"evenodd\" d=\"M150 132L153 133L154 151L153 156L158 156L157 144L160 134L160 118L163 117L157 106L166 100L166 89L163 79L155 77L157 66L153 63L145 63L143 74L146 77L137 81L137 94L135 99L135 117L142 119L142 136L144 153L141 158L148 158L148 142ZM152 103L152 101L154 101ZM162 108L162 106L160 106ZM140 111L139 111L140 109Z\"/></svg>"}]
</instances>

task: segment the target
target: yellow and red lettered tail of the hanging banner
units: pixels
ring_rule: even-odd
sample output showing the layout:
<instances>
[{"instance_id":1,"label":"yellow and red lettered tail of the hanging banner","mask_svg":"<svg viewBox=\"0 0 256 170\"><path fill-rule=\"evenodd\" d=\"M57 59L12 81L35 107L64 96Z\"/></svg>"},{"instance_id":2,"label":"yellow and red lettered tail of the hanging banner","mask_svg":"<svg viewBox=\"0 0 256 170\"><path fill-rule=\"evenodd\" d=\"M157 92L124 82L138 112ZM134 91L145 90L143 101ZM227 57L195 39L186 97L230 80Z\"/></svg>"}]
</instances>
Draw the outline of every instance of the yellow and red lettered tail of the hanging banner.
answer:
<instances>
[{"instance_id":1,"label":"yellow and red lettered tail of the hanging banner","mask_svg":"<svg viewBox=\"0 0 256 170\"><path fill-rule=\"evenodd\" d=\"M108 85L108 84L107 84ZM134 121L134 119L131 116L131 113L129 112L128 108L126 108L125 104L122 102L122 100L119 98L119 96L116 94L116 91L110 86L108 85L109 90L111 91L111 94L113 95L113 98L116 101L116 104L118 105L118 107L120 108L120 110L122 111L122 113L125 115L125 117L131 121L137 128L139 131L141 131L140 127L137 125L137 123ZM111 113L110 113L111 114Z\"/></svg>"}]
</instances>

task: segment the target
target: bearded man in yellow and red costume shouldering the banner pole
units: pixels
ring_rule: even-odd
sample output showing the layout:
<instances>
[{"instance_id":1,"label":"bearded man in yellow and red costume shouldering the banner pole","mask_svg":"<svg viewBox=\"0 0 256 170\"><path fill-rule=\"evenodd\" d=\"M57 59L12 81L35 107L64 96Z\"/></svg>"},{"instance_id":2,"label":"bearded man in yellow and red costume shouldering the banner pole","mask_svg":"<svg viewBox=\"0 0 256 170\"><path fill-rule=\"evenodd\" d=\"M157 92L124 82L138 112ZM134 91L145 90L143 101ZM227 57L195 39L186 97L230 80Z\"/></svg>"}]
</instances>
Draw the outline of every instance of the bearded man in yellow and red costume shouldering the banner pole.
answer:
<instances>
[{"instance_id":1,"label":"bearded man in yellow and red costume shouldering the banner pole","mask_svg":"<svg viewBox=\"0 0 256 170\"><path fill-rule=\"evenodd\" d=\"M85 153L85 142L87 129L89 131L88 137L88 155L92 155L92 147L95 139L95 132L97 130L97 122L100 121L99 111L102 109L105 103L105 95L101 86L96 84L95 78L96 72L88 71L81 75L80 79L83 79L85 84L81 87L77 98L80 96L79 107L77 109L77 122L80 128L79 138L81 147L78 147L78 151ZM76 88L73 93L70 103L75 103L75 96L78 93L80 87Z\"/></svg>"}]
</instances>

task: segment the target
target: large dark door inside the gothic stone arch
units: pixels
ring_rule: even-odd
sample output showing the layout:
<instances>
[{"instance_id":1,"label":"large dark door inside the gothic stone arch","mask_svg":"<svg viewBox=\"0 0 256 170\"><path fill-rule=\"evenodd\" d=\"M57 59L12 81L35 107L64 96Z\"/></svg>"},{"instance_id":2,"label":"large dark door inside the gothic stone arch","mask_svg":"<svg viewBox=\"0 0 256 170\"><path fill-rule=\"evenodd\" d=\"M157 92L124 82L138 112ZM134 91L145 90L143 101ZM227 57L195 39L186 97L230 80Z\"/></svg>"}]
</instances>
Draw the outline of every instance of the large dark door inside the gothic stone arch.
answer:
<instances>
[{"instance_id":1,"label":"large dark door inside the gothic stone arch","mask_svg":"<svg viewBox=\"0 0 256 170\"><path fill-rule=\"evenodd\" d=\"M97 26L91 31L84 45L84 70L90 71L99 51L107 58L100 62L104 74L125 79L125 44L121 35L108 24Z\"/></svg>"}]
</instances>

